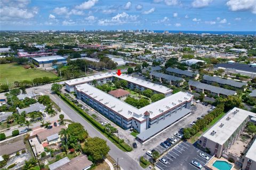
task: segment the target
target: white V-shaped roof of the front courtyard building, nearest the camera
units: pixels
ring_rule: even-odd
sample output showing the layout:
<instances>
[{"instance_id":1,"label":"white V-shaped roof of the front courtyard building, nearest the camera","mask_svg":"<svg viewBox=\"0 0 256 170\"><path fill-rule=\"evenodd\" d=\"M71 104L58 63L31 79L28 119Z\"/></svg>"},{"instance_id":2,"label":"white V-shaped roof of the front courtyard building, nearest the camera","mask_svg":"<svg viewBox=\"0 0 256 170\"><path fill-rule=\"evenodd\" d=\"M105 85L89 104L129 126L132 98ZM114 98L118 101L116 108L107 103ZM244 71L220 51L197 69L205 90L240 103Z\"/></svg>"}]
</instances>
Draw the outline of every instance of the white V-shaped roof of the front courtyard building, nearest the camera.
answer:
<instances>
[{"instance_id":1,"label":"white V-shaped roof of the front courtyard building, nearest the camera","mask_svg":"<svg viewBox=\"0 0 256 170\"><path fill-rule=\"evenodd\" d=\"M166 96L164 99L151 103L148 106L137 109L89 84L77 85L76 89L77 91L82 91L86 95L91 96L94 100L97 100L99 103L102 103L102 105L114 110L126 119L135 117L140 121L145 119L144 113L146 111L150 112L150 118L153 118L167 110L170 110L181 102L189 101L193 98L193 95L191 94L178 92L173 95Z\"/></svg>"}]
</instances>

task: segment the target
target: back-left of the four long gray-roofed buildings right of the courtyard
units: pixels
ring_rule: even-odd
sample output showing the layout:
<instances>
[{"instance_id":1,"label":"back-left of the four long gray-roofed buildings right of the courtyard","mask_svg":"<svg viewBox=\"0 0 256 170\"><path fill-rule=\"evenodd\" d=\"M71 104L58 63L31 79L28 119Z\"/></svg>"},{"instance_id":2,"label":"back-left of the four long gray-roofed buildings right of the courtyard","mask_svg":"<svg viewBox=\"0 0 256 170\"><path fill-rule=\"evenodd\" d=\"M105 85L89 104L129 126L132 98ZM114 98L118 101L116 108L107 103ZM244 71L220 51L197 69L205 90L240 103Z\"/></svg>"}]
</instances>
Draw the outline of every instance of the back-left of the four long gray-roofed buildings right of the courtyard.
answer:
<instances>
[{"instance_id":1,"label":"back-left of the four long gray-roofed buildings right of the courtyard","mask_svg":"<svg viewBox=\"0 0 256 170\"><path fill-rule=\"evenodd\" d=\"M177 77L188 77L190 79L199 78L199 74L192 71L181 70L181 69L171 68L171 67L168 67L165 71L167 74L177 76Z\"/></svg>"}]
</instances>

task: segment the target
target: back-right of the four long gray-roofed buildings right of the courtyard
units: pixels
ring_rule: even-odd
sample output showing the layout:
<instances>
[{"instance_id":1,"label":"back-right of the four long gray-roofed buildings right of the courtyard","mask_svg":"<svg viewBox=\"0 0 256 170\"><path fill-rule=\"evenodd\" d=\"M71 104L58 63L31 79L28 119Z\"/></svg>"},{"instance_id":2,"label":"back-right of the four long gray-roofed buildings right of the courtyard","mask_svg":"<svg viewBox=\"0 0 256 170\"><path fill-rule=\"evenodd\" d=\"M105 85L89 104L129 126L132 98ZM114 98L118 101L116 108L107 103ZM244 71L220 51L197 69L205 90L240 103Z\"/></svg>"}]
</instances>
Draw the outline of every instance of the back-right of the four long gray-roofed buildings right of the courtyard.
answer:
<instances>
[{"instance_id":1,"label":"back-right of the four long gray-roofed buildings right of the courtyard","mask_svg":"<svg viewBox=\"0 0 256 170\"><path fill-rule=\"evenodd\" d=\"M225 85L228 85L228 86L234 87L236 89L243 89L243 90L246 89L245 86L247 85L247 83L237 82L237 81L231 80L231 79L212 77L209 75L203 76L202 83L212 84L213 82L218 83L221 87L225 87Z\"/></svg>"}]
</instances>

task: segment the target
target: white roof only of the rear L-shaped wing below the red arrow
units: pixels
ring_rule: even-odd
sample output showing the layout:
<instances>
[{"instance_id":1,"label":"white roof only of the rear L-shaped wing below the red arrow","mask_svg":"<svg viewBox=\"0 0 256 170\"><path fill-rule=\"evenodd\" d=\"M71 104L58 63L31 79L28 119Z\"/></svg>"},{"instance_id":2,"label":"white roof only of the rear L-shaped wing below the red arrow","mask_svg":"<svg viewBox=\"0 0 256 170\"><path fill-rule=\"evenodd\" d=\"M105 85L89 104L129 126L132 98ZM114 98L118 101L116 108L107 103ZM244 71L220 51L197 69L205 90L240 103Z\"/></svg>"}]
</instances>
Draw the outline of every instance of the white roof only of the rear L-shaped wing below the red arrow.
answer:
<instances>
[{"instance_id":1,"label":"white roof only of the rear L-shaped wing below the red arrow","mask_svg":"<svg viewBox=\"0 0 256 170\"><path fill-rule=\"evenodd\" d=\"M138 85L146 87L146 88L150 88L151 90L154 90L154 91L157 91L157 92L160 92L160 93L163 93L163 94L172 92L172 90L168 87L158 85L158 84L154 84L154 83L148 82L146 80L142 80L140 78L135 78L135 77L125 75L125 74L122 74L122 75L118 76L118 75L116 75L115 72L111 72L111 73L108 72L108 73L105 73L105 74L99 74L99 75L93 75L93 76L89 76L89 77L71 79L71 80L68 80L65 83L69 86L75 86L75 85L91 82L93 79L101 79L101 78L106 78L106 77L111 77L111 76L115 76L117 78L127 80L128 82L138 84Z\"/></svg>"}]
</instances>

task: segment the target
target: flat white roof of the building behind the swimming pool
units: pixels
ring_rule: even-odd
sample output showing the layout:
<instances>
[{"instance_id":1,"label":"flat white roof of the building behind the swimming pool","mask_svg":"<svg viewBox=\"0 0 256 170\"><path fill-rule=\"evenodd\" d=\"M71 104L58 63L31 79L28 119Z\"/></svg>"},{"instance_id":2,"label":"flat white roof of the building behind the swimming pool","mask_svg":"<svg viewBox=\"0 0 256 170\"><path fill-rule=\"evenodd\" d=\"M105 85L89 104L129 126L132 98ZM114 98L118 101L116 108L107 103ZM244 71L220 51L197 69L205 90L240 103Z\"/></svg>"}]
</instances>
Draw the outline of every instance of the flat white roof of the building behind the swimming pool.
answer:
<instances>
[{"instance_id":1,"label":"flat white roof of the building behind the swimming pool","mask_svg":"<svg viewBox=\"0 0 256 170\"><path fill-rule=\"evenodd\" d=\"M234 114L236 112L236 114ZM236 131L236 129L244 122L248 117L256 117L256 114L250 111L246 111L239 108L233 108L229 110L225 116L223 116L217 123L215 123L203 136L213 142L224 144L229 137ZM229 117L229 119L227 119ZM223 126L221 127L220 125ZM214 135L211 133L214 131Z\"/></svg>"}]
</instances>

